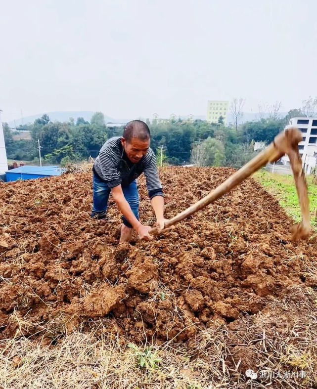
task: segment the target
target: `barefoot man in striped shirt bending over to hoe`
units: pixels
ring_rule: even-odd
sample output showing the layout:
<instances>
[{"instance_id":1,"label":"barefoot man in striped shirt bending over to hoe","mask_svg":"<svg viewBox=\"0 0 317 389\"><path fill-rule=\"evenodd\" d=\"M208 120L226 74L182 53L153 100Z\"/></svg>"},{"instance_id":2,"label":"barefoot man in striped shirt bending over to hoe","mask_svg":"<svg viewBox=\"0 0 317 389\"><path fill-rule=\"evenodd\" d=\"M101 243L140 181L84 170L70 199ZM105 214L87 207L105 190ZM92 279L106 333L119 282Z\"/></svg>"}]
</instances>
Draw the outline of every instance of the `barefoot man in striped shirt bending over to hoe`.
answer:
<instances>
[{"instance_id":1,"label":"barefoot man in striped shirt bending over to hoe","mask_svg":"<svg viewBox=\"0 0 317 389\"><path fill-rule=\"evenodd\" d=\"M128 242L133 229L140 239L151 240L151 229L139 222L136 178L144 173L157 225L164 228L164 197L156 158L150 146L150 130L140 120L129 122L122 137L107 140L93 165L91 217L106 216L110 192L123 215L120 242Z\"/></svg>"}]
</instances>

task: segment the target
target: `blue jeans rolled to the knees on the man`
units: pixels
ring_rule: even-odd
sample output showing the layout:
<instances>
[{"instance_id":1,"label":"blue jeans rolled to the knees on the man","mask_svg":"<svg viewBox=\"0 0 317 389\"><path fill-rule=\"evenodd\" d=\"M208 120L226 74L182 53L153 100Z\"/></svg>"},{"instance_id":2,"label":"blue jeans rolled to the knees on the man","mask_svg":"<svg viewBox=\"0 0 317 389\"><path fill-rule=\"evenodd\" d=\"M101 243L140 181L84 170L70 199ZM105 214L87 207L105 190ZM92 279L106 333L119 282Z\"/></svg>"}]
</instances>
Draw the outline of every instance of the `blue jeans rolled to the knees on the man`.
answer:
<instances>
[{"instance_id":1,"label":"blue jeans rolled to the knees on the man","mask_svg":"<svg viewBox=\"0 0 317 389\"><path fill-rule=\"evenodd\" d=\"M111 192L108 184L102 181L95 174L92 174L92 212L91 217L96 219L103 219L106 217L107 208L108 208L108 199ZM138 220L138 191L136 180L132 181L130 185L122 187L122 191L125 199L128 201L132 212L135 214ZM132 225L129 221L122 216L122 222L129 228L132 228Z\"/></svg>"}]
</instances>

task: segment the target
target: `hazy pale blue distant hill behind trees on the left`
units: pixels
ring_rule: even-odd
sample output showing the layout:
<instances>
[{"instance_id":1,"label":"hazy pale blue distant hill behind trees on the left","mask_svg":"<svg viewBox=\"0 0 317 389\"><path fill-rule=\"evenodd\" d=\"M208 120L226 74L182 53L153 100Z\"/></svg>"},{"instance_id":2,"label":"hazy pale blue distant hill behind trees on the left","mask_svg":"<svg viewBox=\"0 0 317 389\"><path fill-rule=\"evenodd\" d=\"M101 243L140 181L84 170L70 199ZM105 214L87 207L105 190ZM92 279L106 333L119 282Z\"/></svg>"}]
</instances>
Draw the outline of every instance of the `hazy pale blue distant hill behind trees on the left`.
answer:
<instances>
[{"instance_id":1,"label":"hazy pale blue distant hill behind trees on the left","mask_svg":"<svg viewBox=\"0 0 317 389\"><path fill-rule=\"evenodd\" d=\"M15 121L11 121L8 123L10 127L18 127L21 124L29 124L29 123L34 123L34 121L38 118L41 118L42 115L47 114L49 116L49 119L51 122L68 122L69 118L73 118L75 123L77 121L77 118L84 118L86 121L90 122L91 121L91 116L94 114L93 111L57 111L57 112L43 112L38 115L32 115L32 116L27 116L23 118L23 123L22 119L16 119ZM115 120L110 118L109 116L104 117L105 122L114 122Z\"/></svg>"}]
</instances>

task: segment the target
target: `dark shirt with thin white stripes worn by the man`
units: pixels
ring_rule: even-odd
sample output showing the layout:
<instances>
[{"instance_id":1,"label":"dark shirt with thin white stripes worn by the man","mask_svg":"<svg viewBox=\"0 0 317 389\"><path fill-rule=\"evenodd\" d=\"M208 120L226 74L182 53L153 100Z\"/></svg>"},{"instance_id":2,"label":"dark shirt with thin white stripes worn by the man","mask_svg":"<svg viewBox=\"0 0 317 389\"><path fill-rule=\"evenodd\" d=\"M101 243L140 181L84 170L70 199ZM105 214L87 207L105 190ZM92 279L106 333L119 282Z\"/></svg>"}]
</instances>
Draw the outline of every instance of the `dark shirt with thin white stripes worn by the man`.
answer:
<instances>
[{"instance_id":1,"label":"dark shirt with thin white stripes worn by the man","mask_svg":"<svg viewBox=\"0 0 317 389\"><path fill-rule=\"evenodd\" d=\"M145 174L146 187L150 199L163 196L162 184L159 179L156 158L153 150L147 153L139 162L133 164L127 157L121 144L121 136L108 139L99 151L93 172L110 188L117 185L128 186L142 173Z\"/></svg>"}]
</instances>

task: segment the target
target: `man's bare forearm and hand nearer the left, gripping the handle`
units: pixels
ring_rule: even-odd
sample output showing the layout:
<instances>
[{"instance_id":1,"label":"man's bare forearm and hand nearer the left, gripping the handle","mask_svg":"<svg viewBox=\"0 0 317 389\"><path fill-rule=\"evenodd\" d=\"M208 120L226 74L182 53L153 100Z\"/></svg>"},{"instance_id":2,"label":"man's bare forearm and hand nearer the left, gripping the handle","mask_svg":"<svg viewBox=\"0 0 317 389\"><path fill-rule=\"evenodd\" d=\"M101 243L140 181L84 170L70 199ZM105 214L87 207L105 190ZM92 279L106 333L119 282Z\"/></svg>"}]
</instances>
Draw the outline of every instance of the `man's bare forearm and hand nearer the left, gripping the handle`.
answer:
<instances>
[{"instance_id":1,"label":"man's bare forearm and hand nearer the left, gripping the handle","mask_svg":"<svg viewBox=\"0 0 317 389\"><path fill-rule=\"evenodd\" d=\"M149 230L151 227L148 225L143 225L140 223L135 214L132 212L132 209L124 197L121 185L117 185L111 188L112 196L119 208L119 211L123 216L129 221L129 223L133 226L133 228L138 233L140 239L151 240L153 237L149 234Z\"/></svg>"}]
</instances>

